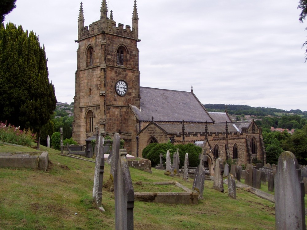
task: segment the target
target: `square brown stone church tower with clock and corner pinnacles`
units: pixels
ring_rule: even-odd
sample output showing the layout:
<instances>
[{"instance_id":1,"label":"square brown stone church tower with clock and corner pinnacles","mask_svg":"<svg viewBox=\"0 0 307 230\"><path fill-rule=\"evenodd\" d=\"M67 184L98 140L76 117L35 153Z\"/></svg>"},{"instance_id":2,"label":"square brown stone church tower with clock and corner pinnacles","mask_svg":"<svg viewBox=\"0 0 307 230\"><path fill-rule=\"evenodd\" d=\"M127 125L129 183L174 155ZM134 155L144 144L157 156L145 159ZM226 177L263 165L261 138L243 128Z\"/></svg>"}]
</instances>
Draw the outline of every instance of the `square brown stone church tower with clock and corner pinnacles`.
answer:
<instances>
[{"instance_id":1,"label":"square brown stone church tower with clock and corner pinnacles","mask_svg":"<svg viewBox=\"0 0 307 230\"><path fill-rule=\"evenodd\" d=\"M119 132L131 145L129 104L140 106L138 12L134 1L132 27L108 17L102 0L100 20L84 26L82 2L78 17L76 94L72 137L79 144L98 126L104 136Z\"/></svg>"}]
</instances>

